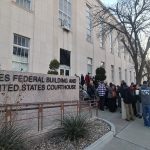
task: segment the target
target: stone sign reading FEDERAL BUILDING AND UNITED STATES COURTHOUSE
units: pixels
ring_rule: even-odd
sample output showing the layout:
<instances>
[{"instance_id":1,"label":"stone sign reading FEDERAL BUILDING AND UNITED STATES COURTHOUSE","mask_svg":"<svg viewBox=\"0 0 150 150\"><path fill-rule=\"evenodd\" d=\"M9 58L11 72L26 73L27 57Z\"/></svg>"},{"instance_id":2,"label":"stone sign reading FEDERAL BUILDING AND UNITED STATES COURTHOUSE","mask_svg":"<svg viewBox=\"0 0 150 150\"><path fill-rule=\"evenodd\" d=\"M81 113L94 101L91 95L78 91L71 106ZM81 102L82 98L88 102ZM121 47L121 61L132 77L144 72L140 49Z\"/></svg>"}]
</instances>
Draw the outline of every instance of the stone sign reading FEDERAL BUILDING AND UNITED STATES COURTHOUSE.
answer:
<instances>
[{"instance_id":1,"label":"stone sign reading FEDERAL BUILDING AND UNITED STATES COURTHOUSE","mask_svg":"<svg viewBox=\"0 0 150 150\"><path fill-rule=\"evenodd\" d=\"M79 100L77 77L0 71L0 103Z\"/></svg>"}]
</instances>

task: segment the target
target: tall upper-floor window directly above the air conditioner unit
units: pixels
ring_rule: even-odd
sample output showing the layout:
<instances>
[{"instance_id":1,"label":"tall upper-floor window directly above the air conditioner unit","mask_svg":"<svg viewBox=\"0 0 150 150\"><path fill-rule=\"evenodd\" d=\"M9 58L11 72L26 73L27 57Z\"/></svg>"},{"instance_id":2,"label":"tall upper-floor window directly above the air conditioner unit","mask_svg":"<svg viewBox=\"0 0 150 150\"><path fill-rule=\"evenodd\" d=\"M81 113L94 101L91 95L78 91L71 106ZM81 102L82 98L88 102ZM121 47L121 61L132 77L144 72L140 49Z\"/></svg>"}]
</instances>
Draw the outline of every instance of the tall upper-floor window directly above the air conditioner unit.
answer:
<instances>
[{"instance_id":1,"label":"tall upper-floor window directly above the air conditioner unit","mask_svg":"<svg viewBox=\"0 0 150 150\"><path fill-rule=\"evenodd\" d=\"M59 0L59 21L71 28L71 0Z\"/></svg>"}]
</instances>

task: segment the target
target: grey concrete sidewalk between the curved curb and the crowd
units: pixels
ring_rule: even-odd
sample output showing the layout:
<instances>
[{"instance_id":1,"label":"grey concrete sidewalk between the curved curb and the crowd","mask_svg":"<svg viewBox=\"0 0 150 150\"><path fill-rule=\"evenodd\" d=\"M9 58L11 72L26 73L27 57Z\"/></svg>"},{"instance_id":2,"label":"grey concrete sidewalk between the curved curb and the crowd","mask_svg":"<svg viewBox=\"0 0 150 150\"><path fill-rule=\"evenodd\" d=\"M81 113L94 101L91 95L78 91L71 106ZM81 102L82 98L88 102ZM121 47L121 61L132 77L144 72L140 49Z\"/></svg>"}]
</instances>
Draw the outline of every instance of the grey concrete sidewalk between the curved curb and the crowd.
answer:
<instances>
[{"instance_id":1,"label":"grey concrete sidewalk between the curved curb and the crowd","mask_svg":"<svg viewBox=\"0 0 150 150\"><path fill-rule=\"evenodd\" d=\"M121 113L99 111L98 117L112 122L116 127L115 137L101 150L150 150L150 128L143 125L143 119L135 121L121 119Z\"/></svg>"}]
</instances>

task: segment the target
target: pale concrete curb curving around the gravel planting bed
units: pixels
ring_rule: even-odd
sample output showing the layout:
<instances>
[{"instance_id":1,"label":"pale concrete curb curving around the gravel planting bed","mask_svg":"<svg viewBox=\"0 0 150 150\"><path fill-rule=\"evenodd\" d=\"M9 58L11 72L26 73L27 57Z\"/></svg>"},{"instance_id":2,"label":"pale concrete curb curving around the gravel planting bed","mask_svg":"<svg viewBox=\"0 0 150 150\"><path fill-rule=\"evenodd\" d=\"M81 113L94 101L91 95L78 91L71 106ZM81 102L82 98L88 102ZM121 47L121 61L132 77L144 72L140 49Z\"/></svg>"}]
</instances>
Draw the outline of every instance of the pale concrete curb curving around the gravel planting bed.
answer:
<instances>
[{"instance_id":1,"label":"pale concrete curb curving around the gravel planting bed","mask_svg":"<svg viewBox=\"0 0 150 150\"><path fill-rule=\"evenodd\" d=\"M107 122L111 126L111 130L84 150L101 150L101 148L103 148L116 134L115 126L111 122L102 118L94 117L92 119L99 119Z\"/></svg>"}]
</instances>

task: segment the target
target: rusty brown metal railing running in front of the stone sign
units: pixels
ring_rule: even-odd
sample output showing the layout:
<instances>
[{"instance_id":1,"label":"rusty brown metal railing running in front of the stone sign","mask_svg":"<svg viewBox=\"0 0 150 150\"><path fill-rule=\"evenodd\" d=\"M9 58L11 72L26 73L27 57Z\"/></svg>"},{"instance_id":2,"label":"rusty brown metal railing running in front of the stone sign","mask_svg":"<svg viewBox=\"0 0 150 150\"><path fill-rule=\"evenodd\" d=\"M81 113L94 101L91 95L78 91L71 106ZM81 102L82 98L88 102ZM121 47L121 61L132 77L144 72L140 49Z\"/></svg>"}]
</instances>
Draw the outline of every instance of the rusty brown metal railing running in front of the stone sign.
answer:
<instances>
[{"instance_id":1,"label":"rusty brown metal railing running in front of the stone sign","mask_svg":"<svg viewBox=\"0 0 150 150\"><path fill-rule=\"evenodd\" d=\"M92 102L92 105L91 105ZM79 115L81 112L88 111L92 116L92 108L96 109L96 116L98 115L98 101L56 101L56 102L38 102L38 103L19 103L19 104L0 104L0 112L3 114L2 122L12 123L21 121L37 122L38 131L43 130L43 123L45 118L53 118L59 116L61 123L65 114L68 112ZM53 111L53 109L55 109ZM54 112L49 114L50 112ZM45 119L46 120L46 119ZM48 119L49 120L49 119ZM30 121L28 123L30 123ZM34 122L34 125L35 125ZM53 122L53 121L52 121Z\"/></svg>"}]
</instances>

